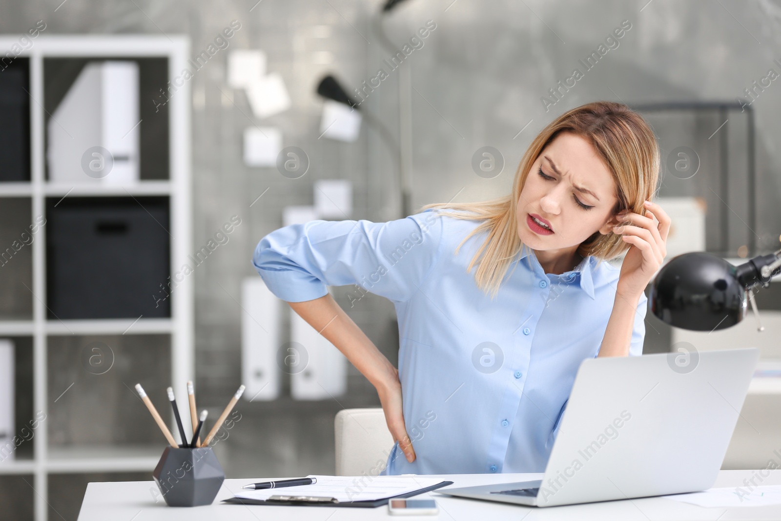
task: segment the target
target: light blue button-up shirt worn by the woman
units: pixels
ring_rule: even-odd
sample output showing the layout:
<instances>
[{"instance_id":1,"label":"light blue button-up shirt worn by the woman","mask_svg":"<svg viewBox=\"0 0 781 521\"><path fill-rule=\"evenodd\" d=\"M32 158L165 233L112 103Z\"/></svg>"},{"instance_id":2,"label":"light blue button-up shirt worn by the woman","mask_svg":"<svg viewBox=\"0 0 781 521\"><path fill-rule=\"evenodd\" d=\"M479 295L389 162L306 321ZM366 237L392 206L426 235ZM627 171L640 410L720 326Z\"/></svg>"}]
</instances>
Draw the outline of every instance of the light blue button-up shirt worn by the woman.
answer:
<instances>
[{"instance_id":1,"label":"light blue button-up shirt worn by the woman","mask_svg":"<svg viewBox=\"0 0 781 521\"><path fill-rule=\"evenodd\" d=\"M397 443L384 473L544 472L578 366L599 351L619 268L597 269L589 256L572 271L544 273L525 246L491 300L466 271L487 232L454 255L478 224L434 209L387 223L315 220L255 248L253 264L284 301L357 284L394 303L417 459L407 462ZM646 309L643 294L630 355L642 354Z\"/></svg>"}]
</instances>

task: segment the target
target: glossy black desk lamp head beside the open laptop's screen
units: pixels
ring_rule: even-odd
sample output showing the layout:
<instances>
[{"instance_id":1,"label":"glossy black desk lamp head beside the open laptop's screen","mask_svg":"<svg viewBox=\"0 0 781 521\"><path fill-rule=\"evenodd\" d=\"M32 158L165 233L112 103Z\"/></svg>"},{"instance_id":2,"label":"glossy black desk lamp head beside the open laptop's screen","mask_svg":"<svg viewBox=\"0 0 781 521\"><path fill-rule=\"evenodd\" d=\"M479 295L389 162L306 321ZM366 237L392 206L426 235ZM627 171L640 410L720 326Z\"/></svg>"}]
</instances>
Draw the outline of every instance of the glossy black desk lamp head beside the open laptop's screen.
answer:
<instances>
[{"instance_id":1,"label":"glossy black desk lamp head beside the open laptop's screen","mask_svg":"<svg viewBox=\"0 0 781 521\"><path fill-rule=\"evenodd\" d=\"M781 250L740 266L705 252L676 255L651 283L651 312L662 322L686 330L726 329L745 318L747 291L758 316L751 288L768 287L779 272Z\"/></svg>"}]
</instances>

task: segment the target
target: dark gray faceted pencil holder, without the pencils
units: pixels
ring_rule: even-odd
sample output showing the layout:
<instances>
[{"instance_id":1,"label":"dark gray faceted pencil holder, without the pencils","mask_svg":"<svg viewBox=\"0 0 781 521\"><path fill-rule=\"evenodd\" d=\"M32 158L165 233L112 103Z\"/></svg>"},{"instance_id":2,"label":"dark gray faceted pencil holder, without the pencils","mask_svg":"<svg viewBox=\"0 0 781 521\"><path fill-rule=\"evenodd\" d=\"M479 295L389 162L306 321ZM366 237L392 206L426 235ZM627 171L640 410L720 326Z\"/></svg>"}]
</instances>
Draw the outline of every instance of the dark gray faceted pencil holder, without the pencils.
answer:
<instances>
[{"instance_id":1,"label":"dark gray faceted pencil holder, without the pencils","mask_svg":"<svg viewBox=\"0 0 781 521\"><path fill-rule=\"evenodd\" d=\"M152 476L168 506L211 505L225 480L211 447L166 447Z\"/></svg>"}]
</instances>

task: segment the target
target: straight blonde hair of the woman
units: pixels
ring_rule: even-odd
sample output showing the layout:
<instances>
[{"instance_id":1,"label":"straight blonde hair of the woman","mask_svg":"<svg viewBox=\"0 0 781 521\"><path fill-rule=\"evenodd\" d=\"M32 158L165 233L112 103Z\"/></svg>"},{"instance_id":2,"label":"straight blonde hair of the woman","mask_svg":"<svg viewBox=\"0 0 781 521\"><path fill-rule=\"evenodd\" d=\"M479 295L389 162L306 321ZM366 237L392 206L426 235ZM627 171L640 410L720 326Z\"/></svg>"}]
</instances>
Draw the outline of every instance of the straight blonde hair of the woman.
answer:
<instances>
[{"instance_id":1,"label":"straight blonde hair of the woman","mask_svg":"<svg viewBox=\"0 0 781 521\"><path fill-rule=\"evenodd\" d=\"M499 291L512 259L522 251L515 209L526 177L543 149L562 132L570 132L590 142L608 167L618 192L615 194L618 201L612 215L625 209L644 215L643 202L646 199L651 201L657 189L659 146L651 127L637 112L621 103L592 102L558 116L537 134L526 149L515 172L511 194L483 202L433 203L423 206L423 210L436 208L438 213L456 210L448 212L448 215L483 221L458 244L455 253L458 254L469 237L483 230L488 231L488 236L469 263L467 272L478 265L476 284L486 293L490 290L491 298ZM603 260L622 255L629 247L630 244L622 241L619 234L611 231L603 235L597 230L580 243L576 251L583 257L594 255L599 259L599 266Z\"/></svg>"}]
</instances>

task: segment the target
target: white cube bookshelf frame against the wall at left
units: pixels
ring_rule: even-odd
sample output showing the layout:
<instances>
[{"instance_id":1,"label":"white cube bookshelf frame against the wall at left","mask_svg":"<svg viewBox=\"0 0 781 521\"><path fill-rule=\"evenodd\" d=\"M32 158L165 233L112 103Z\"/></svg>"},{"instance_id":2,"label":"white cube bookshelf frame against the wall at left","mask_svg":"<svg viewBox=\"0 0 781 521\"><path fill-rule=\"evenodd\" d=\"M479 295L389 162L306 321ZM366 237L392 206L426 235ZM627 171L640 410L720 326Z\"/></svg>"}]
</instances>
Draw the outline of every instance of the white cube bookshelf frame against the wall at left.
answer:
<instances>
[{"instance_id":1,"label":"white cube bookshelf frame against the wall at left","mask_svg":"<svg viewBox=\"0 0 781 521\"><path fill-rule=\"evenodd\" d=\"M0 37L0 48L10 49L21 35ZM45 58L122 59L162 57L168 59L169 79L180 75L187 67L189 40L184 36L141 35L46 35L34 38L33 45L19 57L30 60L30 182L0 182L0 198L21 197L31 202L32 215L45 214L45 200L57 195L124 196L160 195L169 198L170 273L176 273L187 262L191 252L191 124L190 84L185 82L168 102L169 109L169 180L141 180L127 186L84 184L66 186L49 184L45 180L45 122L43 108L43 77ZM161 85L166 87L166 85ZM150 100L150 102L152 102ZM185 277L171 294L169 319L96 319L50 320L44 298L46 295L46 227L41 227L32 248L32 272L35 295L32 320L0 320L0 337L31 337L33 341L33 409L48 416L47 342L51 335L63 334L167 334L170 337L171 381L176 389L184 389L187 380L194 380L193 354L193 277ZM160 385L167 385L161 382ZM158 407L164 404L158 404ZM180 413L189 417L187 400L180 399ZM161 409L162 410L162 409ZM173 415L170 415L173 416ZM48 421L48 419L46 420ZM162 448L159 444L140 447L105 445L95 447L52 448L47 432L55 426L42 422L34 430L34 458L0 463L0 474L32 474L34 476L34 516L45 521L48 512L48 475L52 473L132 472L152 471ZM173 421L171 421L173 425Z\"/></svg>"}]
</instances>

